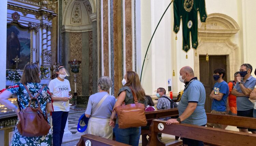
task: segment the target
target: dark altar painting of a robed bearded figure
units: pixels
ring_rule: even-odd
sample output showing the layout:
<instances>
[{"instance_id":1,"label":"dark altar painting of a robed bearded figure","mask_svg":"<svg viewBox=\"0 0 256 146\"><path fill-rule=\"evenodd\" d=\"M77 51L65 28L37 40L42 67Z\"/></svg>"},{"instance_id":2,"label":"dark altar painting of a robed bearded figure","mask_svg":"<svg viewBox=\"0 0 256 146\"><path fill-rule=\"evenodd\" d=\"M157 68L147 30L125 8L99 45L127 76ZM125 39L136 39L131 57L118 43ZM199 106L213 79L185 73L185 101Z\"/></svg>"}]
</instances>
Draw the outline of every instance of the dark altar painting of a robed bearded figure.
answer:
<instances>
[{"instance_id":1,"label":"dark altar painting of a robed bearded figure","mask_svg":"<svg viewBox=\"0 0 256 146\"><path fill-rule=\"evenodd\" d=\"M18 56L21 62L18 68L23 70L30 61L30 30L16 25L7 26L6 40L6 69L16 69L16 62L13 60Z\"/></svg>"}]
</instances>

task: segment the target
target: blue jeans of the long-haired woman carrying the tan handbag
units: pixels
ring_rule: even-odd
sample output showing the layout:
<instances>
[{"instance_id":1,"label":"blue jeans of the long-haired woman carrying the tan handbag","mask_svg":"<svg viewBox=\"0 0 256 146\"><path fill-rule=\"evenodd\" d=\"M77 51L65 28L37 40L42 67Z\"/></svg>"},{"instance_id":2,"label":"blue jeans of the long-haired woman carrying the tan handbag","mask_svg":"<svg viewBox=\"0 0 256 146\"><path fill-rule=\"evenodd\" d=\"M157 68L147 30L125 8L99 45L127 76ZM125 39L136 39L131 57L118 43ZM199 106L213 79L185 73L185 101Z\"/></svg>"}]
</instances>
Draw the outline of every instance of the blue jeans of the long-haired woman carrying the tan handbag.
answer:
<instances>
[{"instance_id":1,"label":"blue jeans of the long-haired woman carrying the tan handbag","mask_svg":"<svg viewBox=\"0 0 256 146\"><path fill-rule=\"evenodd\" d=\"M141 134L141 127L132 127L120 129L118 124L115 125L115 137L117 142L138 146Z\"/></svg>"}]
</instances>

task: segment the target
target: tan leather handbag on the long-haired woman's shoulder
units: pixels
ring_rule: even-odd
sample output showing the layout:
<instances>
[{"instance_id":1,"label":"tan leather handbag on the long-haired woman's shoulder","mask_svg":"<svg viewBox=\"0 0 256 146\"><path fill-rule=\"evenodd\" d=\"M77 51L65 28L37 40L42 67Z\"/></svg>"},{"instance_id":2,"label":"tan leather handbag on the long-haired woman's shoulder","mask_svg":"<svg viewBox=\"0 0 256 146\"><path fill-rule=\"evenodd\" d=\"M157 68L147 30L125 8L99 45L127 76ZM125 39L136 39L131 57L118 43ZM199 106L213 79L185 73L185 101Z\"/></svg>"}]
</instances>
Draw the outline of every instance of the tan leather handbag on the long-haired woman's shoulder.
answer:
<instances>
[{"instance_id":1,"label":"tan leather handbag on the long-haired woman's shoulder","mask_svg":"<svg viewBox=\"0 0 256 146\"><path fill-rule=\"evenodd\" d=\"M117 112L118 126L121 129L147 125L145 105L138 103L137 96L132 88L131 91L134 104L125 105L125 102L123 102L121 106L114 109Z\"/></svg>"}]
</instances>

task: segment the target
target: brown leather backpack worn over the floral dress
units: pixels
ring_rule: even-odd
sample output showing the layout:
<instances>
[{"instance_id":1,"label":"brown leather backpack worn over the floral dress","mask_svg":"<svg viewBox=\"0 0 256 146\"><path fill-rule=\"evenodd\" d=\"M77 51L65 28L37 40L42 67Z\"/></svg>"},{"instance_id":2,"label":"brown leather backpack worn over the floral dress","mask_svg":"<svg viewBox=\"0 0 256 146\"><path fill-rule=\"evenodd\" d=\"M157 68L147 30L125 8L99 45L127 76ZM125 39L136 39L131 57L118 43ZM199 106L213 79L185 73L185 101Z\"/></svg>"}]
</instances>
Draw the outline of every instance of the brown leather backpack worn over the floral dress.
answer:
<instances>
[{"instance_id":1,"label":"brown leather backpack worn over the floral dress","mask_svg":"<svg viewBox=\"0 0 256 146\"><path fill-rule=\"evenodd\" d=\"M17 129L22 136L34 137L47 135L51 126L47 122L47 112L45 111L44 116L44 113L40 107L40 103L37 99L39 94L44 89L44 86L40 89L40 91L37 93L37 96L35 97L31 95L26 85L24 85L24 87L26 88L31 99L29 101L28 107L20 110L18 113L20 119L19 123L17 124ZM30 107L32 99L38 102L38 108Z\"/></svg>"}]
</instances>

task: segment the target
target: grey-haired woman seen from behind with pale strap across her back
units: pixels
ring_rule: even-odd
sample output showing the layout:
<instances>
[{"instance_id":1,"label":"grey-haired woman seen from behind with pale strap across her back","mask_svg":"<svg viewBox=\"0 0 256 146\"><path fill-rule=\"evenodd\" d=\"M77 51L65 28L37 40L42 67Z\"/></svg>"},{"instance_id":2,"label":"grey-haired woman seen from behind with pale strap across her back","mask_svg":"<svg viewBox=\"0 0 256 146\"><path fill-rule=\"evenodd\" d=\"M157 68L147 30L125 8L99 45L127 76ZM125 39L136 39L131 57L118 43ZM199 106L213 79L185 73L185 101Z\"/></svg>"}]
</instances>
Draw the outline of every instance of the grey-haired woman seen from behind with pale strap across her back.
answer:
<instances>
[{"instance_id":1,"label":"grey-haired woman seen from behind with pale strap across her back","mask_svg":"<svg viewBox=\"0 0 256 146\"><path fill-rule=\"evenodd\" d=\"M100 77L99 92L89 97L85 116L90 117L87 127L88 134L112 140L113 128L109 126L109 122L116 100L114 96L108 94L111 86L110 77Z\"/></svg>"}]
</instances>

